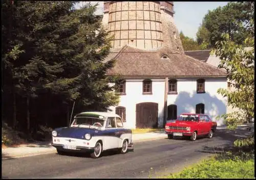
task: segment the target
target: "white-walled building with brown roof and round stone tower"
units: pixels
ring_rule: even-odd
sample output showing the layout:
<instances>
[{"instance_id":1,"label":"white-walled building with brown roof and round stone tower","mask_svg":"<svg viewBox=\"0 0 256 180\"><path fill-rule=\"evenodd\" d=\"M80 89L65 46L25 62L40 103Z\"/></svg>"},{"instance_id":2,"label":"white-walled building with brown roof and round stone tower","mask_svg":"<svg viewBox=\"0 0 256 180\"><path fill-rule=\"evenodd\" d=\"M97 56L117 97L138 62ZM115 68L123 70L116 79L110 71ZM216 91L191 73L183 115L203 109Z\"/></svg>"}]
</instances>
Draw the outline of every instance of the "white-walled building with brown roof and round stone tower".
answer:
<instances>
[{"instance_id":1,"label":"white-walled building with brown roof and round stone tower","mask_svg":"<svg viewBox=\"0 0 256 180\"><path fill-rule=\"evenodd\" d=\"M187 56L173 6L173 2L104 2L102 23L114 37L105 61L116 61L108 74L123 79L117 82L119 105L110 109L127 127L163 127L184 112L205 113L213 119L226 113L226 98L217 93L227 87L226 73Z\"/></svg>"}]
</instances>

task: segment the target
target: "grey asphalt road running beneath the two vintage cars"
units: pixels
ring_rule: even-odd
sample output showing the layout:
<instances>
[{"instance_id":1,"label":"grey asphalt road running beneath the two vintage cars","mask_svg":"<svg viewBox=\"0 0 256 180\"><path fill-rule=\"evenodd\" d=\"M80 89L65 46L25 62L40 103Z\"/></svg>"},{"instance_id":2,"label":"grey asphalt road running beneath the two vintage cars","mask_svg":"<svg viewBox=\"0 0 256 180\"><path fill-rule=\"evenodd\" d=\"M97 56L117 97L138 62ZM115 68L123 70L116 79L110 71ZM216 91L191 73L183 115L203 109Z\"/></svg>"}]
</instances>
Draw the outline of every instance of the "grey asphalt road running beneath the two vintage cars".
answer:
<instances>
[{"instance_id":1,"label":"grey asphalt road running beneath the two vintage cars","mask_svg":"<svg viewBox=\"0 0 256 180\"><path fill-rule=\"evenodd\" d=\"M242 132L244 135L244 133ZM134 144L124 155L39 155L2 160L2 178L143 178L174 173L228 148L239 135L218 130L212 139L159 139Z\"/></svg>"}]
</instances>

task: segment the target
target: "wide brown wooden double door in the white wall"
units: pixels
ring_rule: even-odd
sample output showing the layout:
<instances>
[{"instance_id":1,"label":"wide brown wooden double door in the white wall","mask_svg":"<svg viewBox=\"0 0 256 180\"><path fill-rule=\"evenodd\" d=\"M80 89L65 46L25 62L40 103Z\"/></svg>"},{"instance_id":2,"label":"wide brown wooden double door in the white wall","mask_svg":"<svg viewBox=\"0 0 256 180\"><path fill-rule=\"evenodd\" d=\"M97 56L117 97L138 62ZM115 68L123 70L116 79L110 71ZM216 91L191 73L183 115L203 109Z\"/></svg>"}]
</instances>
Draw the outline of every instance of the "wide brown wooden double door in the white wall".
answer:
<instances>
[{"instance_id":1,"label":"wide brown wooden double door in the white wall","mask_svg":"<svg viewBox=\"0 0 256 180\"><path fill-rule=\"evenodd\" d=\"M158 104L142 102L136 105L136 128L151 128L158 126Z\"/></svg>"}]
</instances>

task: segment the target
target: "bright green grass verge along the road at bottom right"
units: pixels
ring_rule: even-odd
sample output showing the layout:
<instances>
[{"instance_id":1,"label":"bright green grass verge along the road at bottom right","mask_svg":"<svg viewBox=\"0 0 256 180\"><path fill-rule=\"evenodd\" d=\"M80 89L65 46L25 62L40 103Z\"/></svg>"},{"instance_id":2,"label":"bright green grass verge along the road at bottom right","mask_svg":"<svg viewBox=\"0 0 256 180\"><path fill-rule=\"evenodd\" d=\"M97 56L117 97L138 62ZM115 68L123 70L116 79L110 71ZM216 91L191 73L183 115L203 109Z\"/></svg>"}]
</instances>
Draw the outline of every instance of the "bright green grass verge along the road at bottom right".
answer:
<instances>
[{"instance_id":1,"label":"bright green grass verge along the road at bottom right","mask_svg":"<svg viewBox=\"0 0 256 180\"><path fill-rule=\"evenodd\" d=\"M254 150L226 152L162 178L254 178Z\"/></svg>"}]
</instances>

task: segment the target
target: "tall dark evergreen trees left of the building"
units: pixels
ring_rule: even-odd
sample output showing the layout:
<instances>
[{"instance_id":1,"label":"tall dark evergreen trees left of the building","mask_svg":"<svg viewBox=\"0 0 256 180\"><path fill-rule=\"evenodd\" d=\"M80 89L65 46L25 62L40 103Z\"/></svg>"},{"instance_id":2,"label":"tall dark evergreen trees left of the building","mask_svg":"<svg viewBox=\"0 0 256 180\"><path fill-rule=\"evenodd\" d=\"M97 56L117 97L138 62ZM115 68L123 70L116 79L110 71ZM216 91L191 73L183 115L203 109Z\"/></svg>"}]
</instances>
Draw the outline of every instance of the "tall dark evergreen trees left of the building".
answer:
<instances>
[{"instance_id":1,"label":"tall dark evergreen trees left of the building","mask_svg":"<svg viewBox=\"0 0 256 180\"><path fill-rule=\"evenodd\" d=\"M8 119L17 114L20 128L24 117L31 126L63 125L74 101L78 112L106 110L118 102L106 76L114 60L104 62L110 38L94 15L96 6L74 10L75 3L2 2L3 112ZM16 108L9 102L13 94Z\"/></svg>"}]
</instances>

